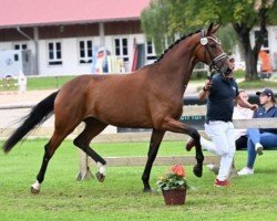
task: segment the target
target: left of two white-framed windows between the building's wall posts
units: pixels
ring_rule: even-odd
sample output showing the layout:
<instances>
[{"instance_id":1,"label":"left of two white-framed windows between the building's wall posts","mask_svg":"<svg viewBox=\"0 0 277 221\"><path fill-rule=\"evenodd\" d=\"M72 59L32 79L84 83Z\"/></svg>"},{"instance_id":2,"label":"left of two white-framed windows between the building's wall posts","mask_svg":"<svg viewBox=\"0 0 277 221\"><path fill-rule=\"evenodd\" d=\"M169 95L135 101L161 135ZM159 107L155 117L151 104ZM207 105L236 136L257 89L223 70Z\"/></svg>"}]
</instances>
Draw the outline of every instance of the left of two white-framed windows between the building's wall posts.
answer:
<instances>
[{"instance_id":1,"label":"left of two white-framed windows between the building's wall posts","mask_svg":"<svg viewBox=\"0 0 277 221\"><path fill-rule=\"evenodd\" d=\"M48 43L48 60L49 60L49 65L62 64L61 42L49 42Z\"/></svg>"}]
</instances>

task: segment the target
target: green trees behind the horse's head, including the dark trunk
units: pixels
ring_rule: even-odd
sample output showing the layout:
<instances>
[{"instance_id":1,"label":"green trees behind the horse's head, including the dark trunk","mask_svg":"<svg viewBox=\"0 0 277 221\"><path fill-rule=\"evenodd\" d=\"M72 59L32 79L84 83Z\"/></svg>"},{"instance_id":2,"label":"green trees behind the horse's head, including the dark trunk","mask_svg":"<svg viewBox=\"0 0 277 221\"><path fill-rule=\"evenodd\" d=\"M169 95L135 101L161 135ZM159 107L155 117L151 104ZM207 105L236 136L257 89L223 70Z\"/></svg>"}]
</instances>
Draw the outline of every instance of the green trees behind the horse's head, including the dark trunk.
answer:
<instances>
[{"instance_id":1,"label":"green trees behind the horse's head, including the dark trunk","mask_svg":"<svg viewBox=\"0 0 277 221\"><path fill-rule=\"evenodd\" d=\"M153 13L155 10L158 18ZM148 20L150 17L152 20ZM183 34L207 27L209 22L219 22L225 27L218 34L225 51L232 52L238 40L246 62L246 78L252 80L257 78L258 53L267 33L266 27L277 21L277 3L275 0L152 0L151 8L144 10L142 18L143 31L154 39L155 44L158 38L160 41L165 35L173 39L174 33ZM146 22L150 22L151 30L145 28ZM252 43L250 31L254 27L259 32ZM162 49L164 44L160 46Z\"/></svg>"}]
</instances>

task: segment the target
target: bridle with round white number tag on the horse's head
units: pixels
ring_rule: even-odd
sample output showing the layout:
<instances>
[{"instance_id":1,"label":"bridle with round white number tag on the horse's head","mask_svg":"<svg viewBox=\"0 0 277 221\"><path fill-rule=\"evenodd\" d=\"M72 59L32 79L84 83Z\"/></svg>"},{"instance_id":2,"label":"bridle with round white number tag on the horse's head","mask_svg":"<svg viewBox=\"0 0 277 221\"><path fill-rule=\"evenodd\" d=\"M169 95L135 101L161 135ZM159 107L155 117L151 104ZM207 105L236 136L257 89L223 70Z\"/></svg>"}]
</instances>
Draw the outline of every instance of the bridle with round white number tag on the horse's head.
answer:
<instances>
[{"instance_id":1,"label":"bridle with round white number tag on the horse's head","mask_svg":"<svg viewBox=\"0 0 277 221\"><path fill-rule=\"evenodd\" d=\"M208 52L209 57L212 59L212 53L208 48L208 40L214 41L216 44L222 45L222 41L219 39L214 39L212 36L206 36L205 30L201 31L201 44L205 46L205 57L206 57L206 51ZM228 59L228 55L226 53L222 53L218 56L212 59L209 66L209 71L212 72L213 70L218 71L222 69L223 65L219 65L219 62L222 60Z\"/></svg>"}]
</instances>

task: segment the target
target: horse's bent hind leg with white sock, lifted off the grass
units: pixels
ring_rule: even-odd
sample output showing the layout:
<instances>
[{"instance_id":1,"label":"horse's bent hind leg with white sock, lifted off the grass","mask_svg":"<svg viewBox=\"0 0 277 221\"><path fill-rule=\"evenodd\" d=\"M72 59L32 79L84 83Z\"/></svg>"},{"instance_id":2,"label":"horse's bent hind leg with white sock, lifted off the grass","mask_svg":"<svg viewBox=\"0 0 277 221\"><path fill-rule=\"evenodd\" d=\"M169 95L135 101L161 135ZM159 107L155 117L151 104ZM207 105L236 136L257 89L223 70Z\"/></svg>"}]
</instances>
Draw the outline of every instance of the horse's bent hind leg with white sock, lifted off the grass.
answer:
<instances>
[{"instance_id":1,"label":"horse's bent hind leg with white sock, lifted off the grass","mask_svg":"<svg viewBox=\"0 0 277 221\"><path fill-rule=\"evenodd\" d=\"M105 179L106 161L90 147L90 141L95 136L98 136L105 127L106 124L103 124L102 122L99 122L93 117L90 117L85 119L84 130L74 139L74 145L80 149L82 149L98 164L99 171L96 172L96 178L101 182L103 182Z\"/></svg>"}]
</instances>

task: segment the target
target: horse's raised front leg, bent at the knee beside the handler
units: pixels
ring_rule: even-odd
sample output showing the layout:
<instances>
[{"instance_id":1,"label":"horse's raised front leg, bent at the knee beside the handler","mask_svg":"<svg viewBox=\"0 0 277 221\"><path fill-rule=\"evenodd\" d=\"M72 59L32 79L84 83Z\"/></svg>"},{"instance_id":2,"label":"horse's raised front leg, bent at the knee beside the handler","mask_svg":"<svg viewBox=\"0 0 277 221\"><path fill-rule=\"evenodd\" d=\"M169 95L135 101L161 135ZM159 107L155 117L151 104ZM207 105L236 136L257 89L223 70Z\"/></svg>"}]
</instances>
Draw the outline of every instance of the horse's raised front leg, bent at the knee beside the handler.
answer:
<instances>
[{"instance_id":1,"label":"horse's raised front leg, bent at the knee beside the handler","mask_svg":"<svg viewBox=\"0 0 277 221\"><path fill-rule=\"evenodd\" d=\"M174 133L182 133L182 134L186 134L189 135L193 139L194 139L194 144L195 144L195 149L196 149L196 161L197 164L194 166L194 175L196 177L202 177L203 173L203 161L204 161L204 156L203 156L203 151L202 151L202 147L201 147L201 136L199 133L194 129L193 127L189 127L185 124L183 124L182 122L178 122L176 119L173 118L167 118L166 120L164 120L162 128L164 130L170 130L170 131L174 131Z\"/></svg>"}]
</instances>

